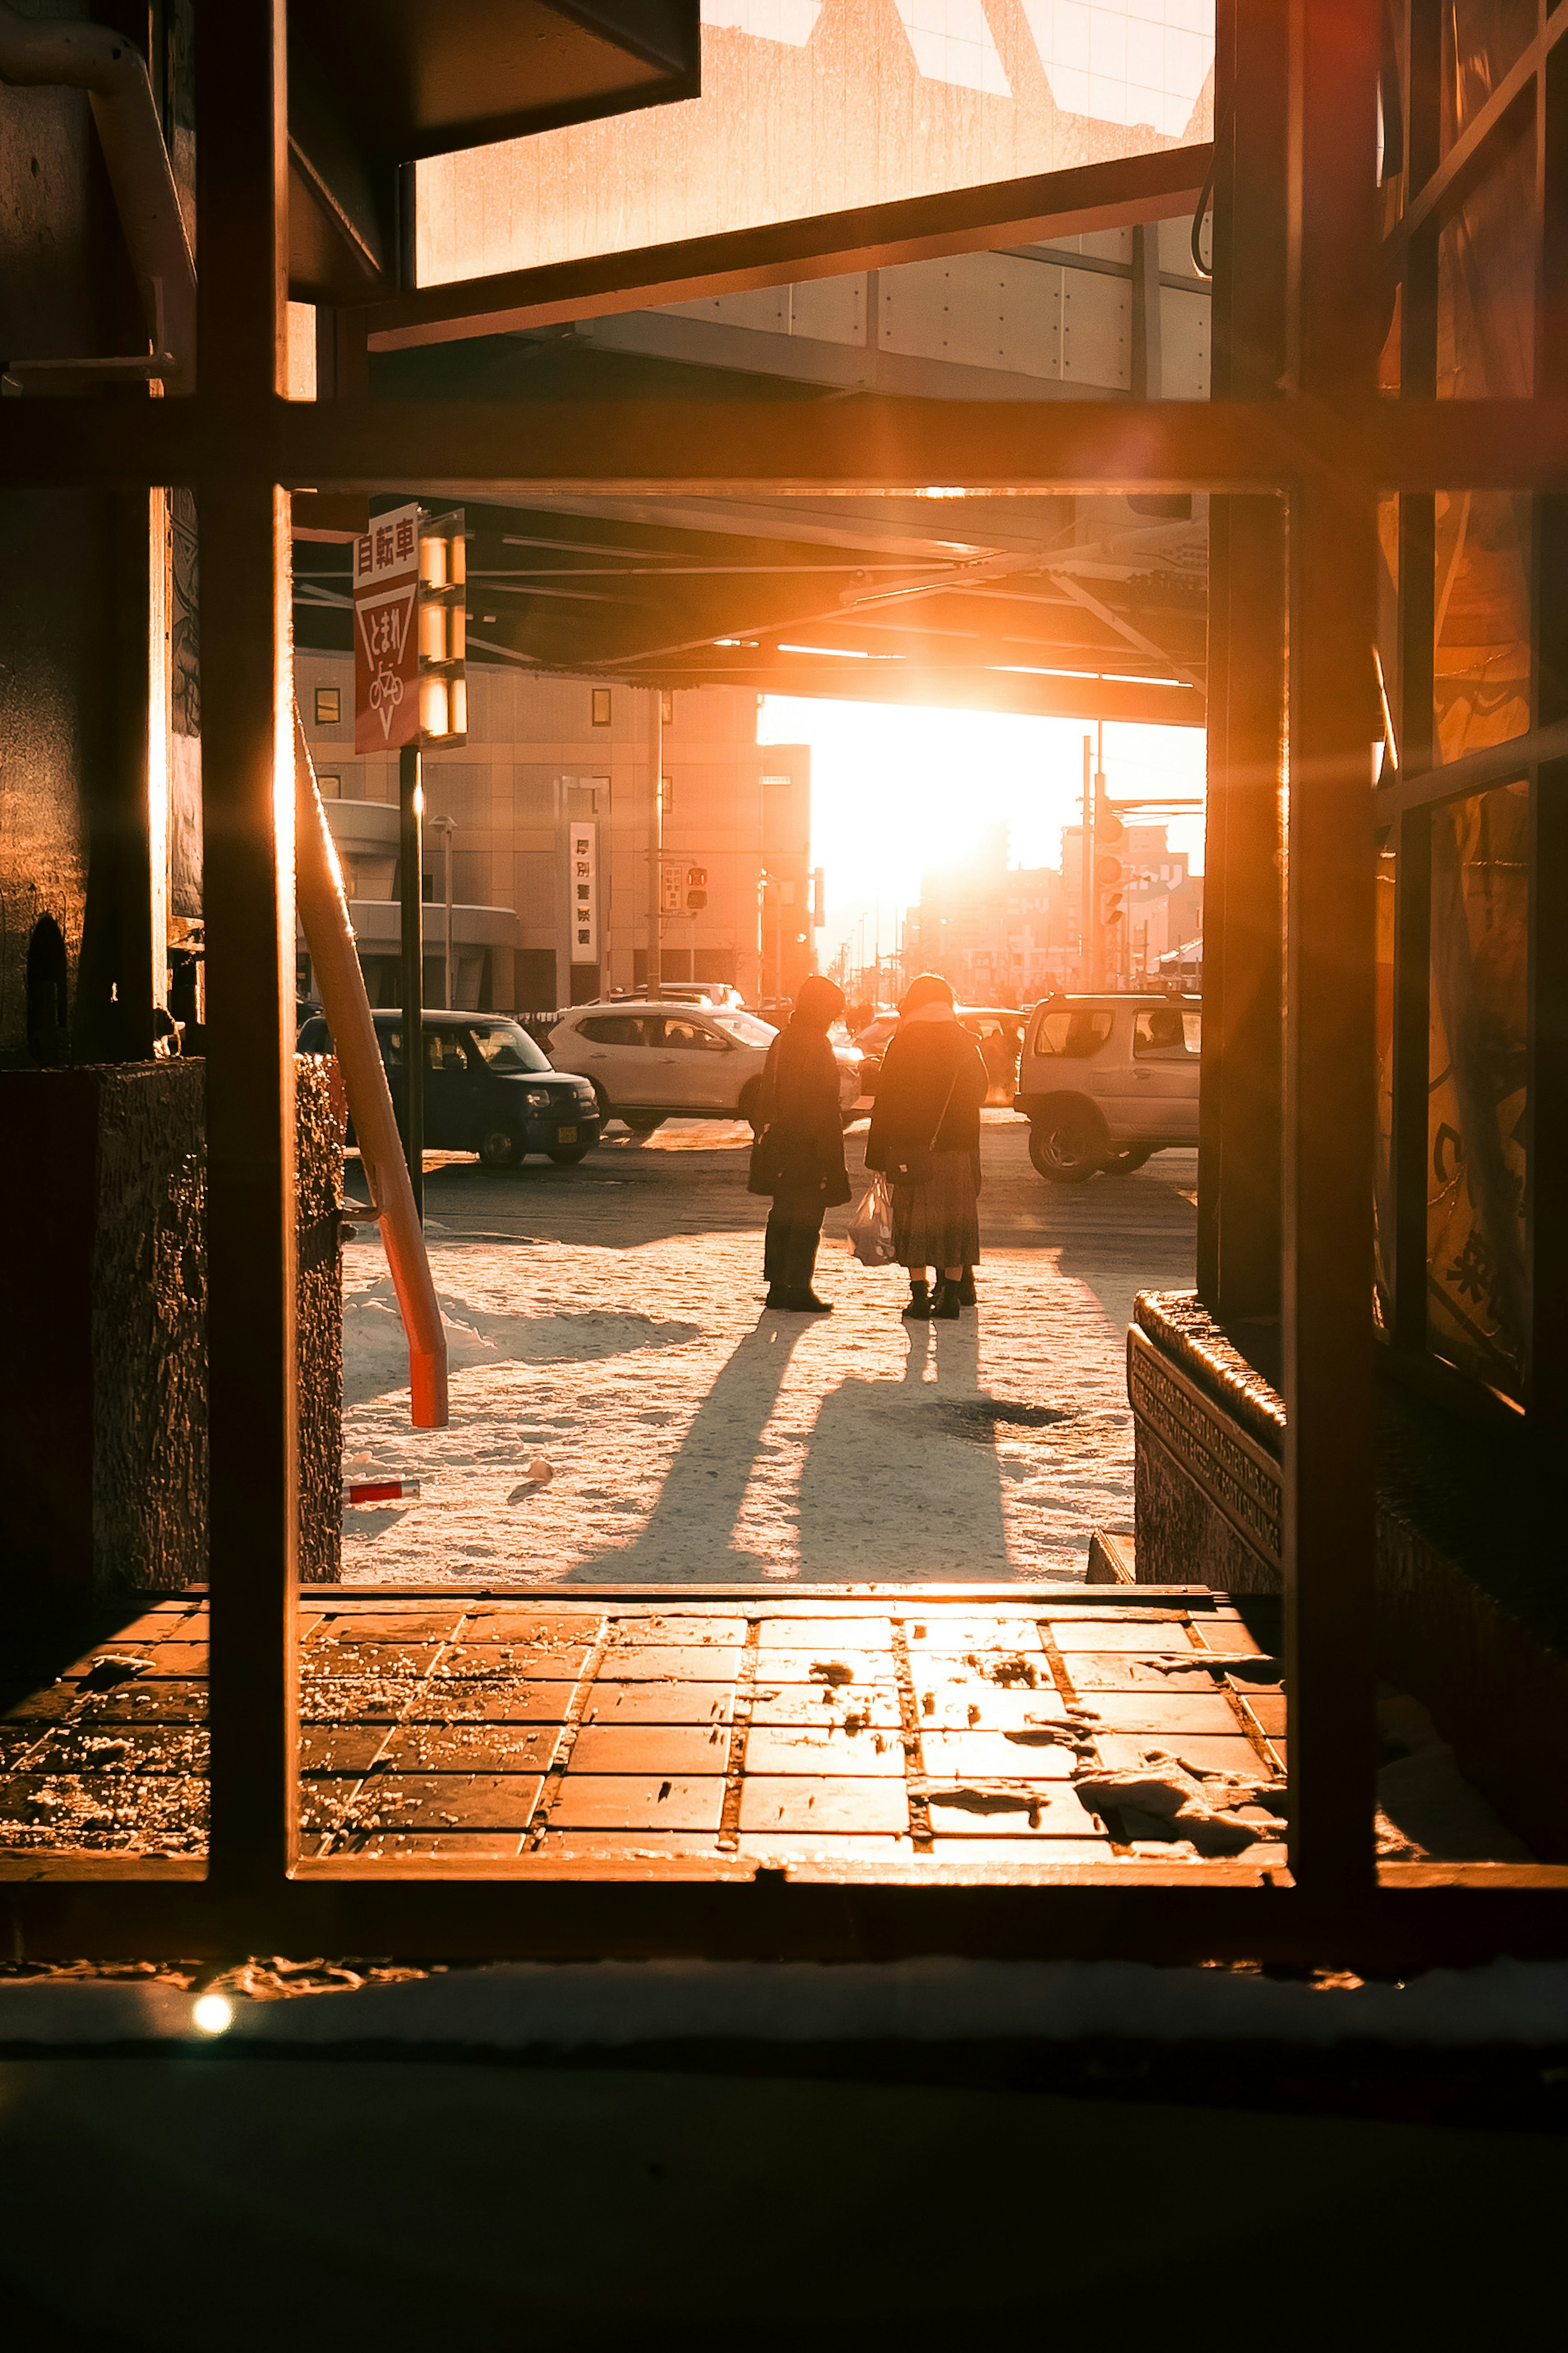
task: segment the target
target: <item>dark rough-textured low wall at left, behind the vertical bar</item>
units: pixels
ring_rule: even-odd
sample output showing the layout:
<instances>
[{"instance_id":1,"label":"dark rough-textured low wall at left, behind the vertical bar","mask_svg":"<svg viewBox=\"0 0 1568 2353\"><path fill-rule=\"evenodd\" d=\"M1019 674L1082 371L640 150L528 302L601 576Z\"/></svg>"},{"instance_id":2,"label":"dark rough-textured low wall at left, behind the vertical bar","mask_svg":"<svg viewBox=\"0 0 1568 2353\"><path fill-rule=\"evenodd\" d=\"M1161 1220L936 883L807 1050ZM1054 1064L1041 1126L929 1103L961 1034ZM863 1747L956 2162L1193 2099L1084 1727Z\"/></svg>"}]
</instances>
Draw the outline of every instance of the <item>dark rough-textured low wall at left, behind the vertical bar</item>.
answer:
<instances>
[{"instance_id":1,"label":"dark rough-textured low wall at left, behind the vertical bar","mask_svg":"<svg viewBox=\"0 0 1568 2353\"><path fill-rule=\"evenodd\" d=\"M341 1136L296 1068L299 1565L341 1574ZM0 1071L0 1614L207 1579L205 1064Z\"/></svg>"}]
</instances>

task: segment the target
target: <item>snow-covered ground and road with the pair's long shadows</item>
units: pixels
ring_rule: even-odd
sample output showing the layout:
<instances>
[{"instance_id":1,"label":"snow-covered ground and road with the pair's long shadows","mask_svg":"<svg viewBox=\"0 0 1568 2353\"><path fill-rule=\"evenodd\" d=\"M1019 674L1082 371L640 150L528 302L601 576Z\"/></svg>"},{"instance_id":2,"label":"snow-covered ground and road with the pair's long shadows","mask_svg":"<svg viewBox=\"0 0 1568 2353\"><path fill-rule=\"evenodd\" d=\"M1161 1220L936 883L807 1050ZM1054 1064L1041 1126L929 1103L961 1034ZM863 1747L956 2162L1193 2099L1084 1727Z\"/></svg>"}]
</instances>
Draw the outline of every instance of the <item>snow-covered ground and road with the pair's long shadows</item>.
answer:
<instances>
[{"instance_id":1,"label":"snow-covered ground and road with the pair's long shadows","mask_svg":"<svg viewBox=\"0 0 1568 2353\"><path fill-rule=\"evenodd\" d=\"M386 1259L348 1245L346 1459L423 1492L346 1513L346 1579L1079 1579L1091 1527L1131 1525L1124 1332L1138 1289L1192 1282L1197 1155L1046 1186L1023 1120L987 1113L980 1306L905 1325L900 1271L844 1247L849 1209L818 1259L837 1313L762 1311L748 1141L672 1122L576 1169L433 1165L447 1431L409 1428Z\"/></svg>"}]
</instances>

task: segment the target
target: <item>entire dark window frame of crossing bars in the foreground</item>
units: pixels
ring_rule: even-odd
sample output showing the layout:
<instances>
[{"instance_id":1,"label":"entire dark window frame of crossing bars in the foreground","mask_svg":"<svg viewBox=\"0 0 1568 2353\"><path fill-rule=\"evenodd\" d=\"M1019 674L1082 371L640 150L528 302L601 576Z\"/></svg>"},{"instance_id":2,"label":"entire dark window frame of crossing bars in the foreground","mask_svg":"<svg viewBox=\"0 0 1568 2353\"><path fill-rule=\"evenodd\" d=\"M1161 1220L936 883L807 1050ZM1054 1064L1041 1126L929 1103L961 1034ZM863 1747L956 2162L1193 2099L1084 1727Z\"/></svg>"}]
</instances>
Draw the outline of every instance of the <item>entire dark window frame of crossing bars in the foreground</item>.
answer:
<instances>
[{"instance_id":1,"label":"entire dark window frame of crossing bars in the foreground","mask_svg":"<svg viewBox=\"0 0 1568 2353\"><path fill-rule=\"evenodd\" d=\"M1425 5L1425 0L1422 0ZM197 45L200 381L146 407L7 402L0 482L190 485L202 544L209 946L212 1845L9 1882L24 1951L440 1955L1124 1953L1465 1960L1568 1944L1568 1868L1375 1866L1375 501L1568 499L1568 402L1380 400L1375 0L1246 0L1279 40L1288 355L1208 407L903 400L296 405L284 381L284 0ZM1229 0L1222 16L1234 19ZM1568 5L1530 52L1561 38ZM1234 31L1234 24L1232 24ZM1453 158L1450 158L1453 165ZM1453 167L1458 172L1458 167ZM1450 172L1453 176L1453 172ZM1237 198L1246 188L1237 191ZM1234 235L1246 233L1234 205ZM1248 1885L893 1885L759 1873L458 1878L296 1861L289 489L1211 489L1288 513L1281 1308L1291 1868ZM1251 659L1244 649L1241 659ZM1448 779L1446 779L1448 781ZM1561 795L1559 795L1561 800ZM1556 819L1554 819L1556 824ZM1563 845L1552 842L1561 856Z\"/></svg>"}]
</instances>

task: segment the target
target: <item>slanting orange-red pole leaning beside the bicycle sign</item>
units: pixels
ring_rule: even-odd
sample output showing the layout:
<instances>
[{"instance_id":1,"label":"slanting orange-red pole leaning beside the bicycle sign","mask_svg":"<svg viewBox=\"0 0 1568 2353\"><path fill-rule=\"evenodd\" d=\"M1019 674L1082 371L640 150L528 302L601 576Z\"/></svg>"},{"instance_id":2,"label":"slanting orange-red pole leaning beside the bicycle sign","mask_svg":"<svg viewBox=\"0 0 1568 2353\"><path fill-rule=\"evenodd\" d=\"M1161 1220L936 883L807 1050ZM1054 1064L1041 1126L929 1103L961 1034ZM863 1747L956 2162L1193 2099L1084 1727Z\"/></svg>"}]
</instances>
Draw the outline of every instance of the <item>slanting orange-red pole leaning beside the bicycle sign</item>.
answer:
<instances>
[{"instance_id":1,"label":"slanting orange-red pole leaning beside the bicycle sign","mask_svg":"<svg viewBox=\"0 0 1568 2353\"><path fill-rule=\"evenodd\" d=\"M376 1024L343 896L327 812L315 786L315 767L299 711L294 713L294 896L310 951L310 969L322 991L322 1012L343 1071L348 1111L355 1122L364 1181L369 1186L386 1264L393 1271L402 1329L409 1337L409 1419L416 1431L447 1428L447 1332L435 1304L425 1235L414 1209L414 1188L402 1160ZM404 1052L416 1045L404 1038Z\"/></svg>"}]
</instances>

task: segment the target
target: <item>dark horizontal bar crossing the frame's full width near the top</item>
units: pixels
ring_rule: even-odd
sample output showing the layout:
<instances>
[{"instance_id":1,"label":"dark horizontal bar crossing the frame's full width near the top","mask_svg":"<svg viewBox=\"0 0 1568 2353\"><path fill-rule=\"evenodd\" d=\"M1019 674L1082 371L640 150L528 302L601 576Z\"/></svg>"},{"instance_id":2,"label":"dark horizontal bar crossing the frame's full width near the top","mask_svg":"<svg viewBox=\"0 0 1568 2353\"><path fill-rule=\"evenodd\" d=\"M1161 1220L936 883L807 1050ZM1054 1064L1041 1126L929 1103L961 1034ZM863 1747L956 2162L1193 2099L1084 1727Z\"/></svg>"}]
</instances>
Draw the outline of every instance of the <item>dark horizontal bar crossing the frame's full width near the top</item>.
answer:
<instances>
[{"instance_id":1,"label":"dark horizontal bar crossing the frame's full width near the top","mask_svg":"<svg viewBox=\"0 0 1568 2353\"><path fill-rule=\"evenodd\" d=\"M1382 489L1568 494L1568 398L1540 400L275 400L7 402L0 487L195 482L308 489L755 499L1218 489L1316 475ZM933 527L940 506L931 506Z\"/></svg>"}]
</instances>

